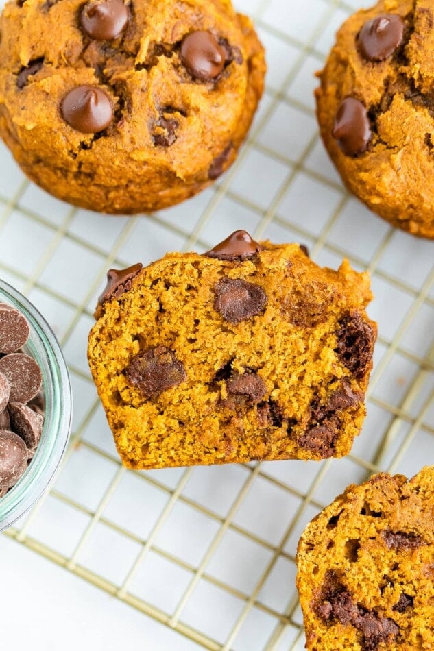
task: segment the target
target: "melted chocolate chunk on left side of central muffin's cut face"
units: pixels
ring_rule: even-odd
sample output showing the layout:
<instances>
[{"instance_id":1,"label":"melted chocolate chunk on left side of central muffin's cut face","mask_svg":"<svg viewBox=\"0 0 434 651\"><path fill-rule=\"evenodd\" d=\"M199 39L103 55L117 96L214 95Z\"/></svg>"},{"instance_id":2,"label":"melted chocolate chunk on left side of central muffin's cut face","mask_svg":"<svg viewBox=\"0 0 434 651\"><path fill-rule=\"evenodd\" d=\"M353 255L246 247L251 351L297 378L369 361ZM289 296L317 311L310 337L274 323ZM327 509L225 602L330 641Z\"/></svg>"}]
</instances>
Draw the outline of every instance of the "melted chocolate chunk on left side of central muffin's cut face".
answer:
<instances>
[{"instance_id":1,"label":"melted chocolate chunk on left side of central muffin's cut face","mask_svg":"<svg viewBox=\"0 0 434 651\"><path fill-rule=\"evenodd\" d=\"M125 376L146 396L156 396L186 380L184 365L165 346L136 356L125 369Z\"/></svg>"}]
</instances>

